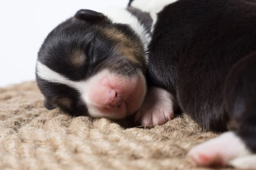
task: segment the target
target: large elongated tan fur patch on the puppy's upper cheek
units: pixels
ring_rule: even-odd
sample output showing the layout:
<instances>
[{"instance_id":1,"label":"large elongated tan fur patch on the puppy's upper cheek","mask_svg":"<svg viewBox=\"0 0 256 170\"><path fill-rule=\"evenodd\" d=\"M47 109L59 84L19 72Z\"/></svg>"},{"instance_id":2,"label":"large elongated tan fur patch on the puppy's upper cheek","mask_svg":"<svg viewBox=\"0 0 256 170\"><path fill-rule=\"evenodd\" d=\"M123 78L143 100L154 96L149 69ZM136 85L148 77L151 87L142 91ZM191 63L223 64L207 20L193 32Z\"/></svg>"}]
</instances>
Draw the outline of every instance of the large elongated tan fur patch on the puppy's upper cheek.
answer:
<instances>
[{"instance_id":1,"label":"large elongated tan fur patch on the puppy's upper cheek","mask_svg":"<svg viewBox=\"0 0 256 170\"><path fill-rule=\"evenodd\" d=\"M105 29L105 34L114 40L118 50L132 63L141 62L144 64L144 51L142 44L137 40L131 40L116 28Z\"/></svg>"}]
</instances>

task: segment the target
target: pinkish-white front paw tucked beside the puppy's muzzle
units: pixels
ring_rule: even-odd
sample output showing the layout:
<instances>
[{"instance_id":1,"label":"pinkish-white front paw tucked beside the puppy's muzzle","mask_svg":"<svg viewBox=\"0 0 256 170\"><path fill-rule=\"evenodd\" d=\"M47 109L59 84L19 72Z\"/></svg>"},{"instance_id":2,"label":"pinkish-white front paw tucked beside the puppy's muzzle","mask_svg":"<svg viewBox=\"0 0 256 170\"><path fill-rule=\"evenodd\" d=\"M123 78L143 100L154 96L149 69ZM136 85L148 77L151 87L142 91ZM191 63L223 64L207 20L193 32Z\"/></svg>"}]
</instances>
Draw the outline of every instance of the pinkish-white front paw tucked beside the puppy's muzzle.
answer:
<instances>
[{"instance_id":1,"label":"pinkish-white front paw tucked beside the puppy's muzzle","mask_svg":"<svg viewBox=\"0 0 256 170\"><path fill-rule=\"evenodd\" d=\"M163 125L173 118L176 109L176 99L169 91L151 87L142 107L135 115L135 121L144 126Z\"/></svg>"}]
</instances>

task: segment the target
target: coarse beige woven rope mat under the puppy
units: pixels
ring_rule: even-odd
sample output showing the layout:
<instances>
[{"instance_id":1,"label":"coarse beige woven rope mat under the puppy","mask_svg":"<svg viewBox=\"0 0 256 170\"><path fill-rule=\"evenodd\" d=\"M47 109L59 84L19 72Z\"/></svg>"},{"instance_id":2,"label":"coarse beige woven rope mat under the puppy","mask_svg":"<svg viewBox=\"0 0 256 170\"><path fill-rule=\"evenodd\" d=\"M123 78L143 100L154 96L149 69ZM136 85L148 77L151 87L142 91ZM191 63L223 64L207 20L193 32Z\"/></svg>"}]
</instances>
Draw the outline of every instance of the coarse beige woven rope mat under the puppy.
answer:
<instances>
[{"instance_id":1,"label":"coarse beige woven rope mat under the puppy","mask_svg":"<svg viewBox=\"0 0 256 170\"><path fill-rule=\"evenodd\" d=\"M125 128L127 121L47 111L43 99L35 82L0 88L0 170L207 169L195 167L186 153L217 134L204 133L186 116Z\"/></svg>"}]
</instances>

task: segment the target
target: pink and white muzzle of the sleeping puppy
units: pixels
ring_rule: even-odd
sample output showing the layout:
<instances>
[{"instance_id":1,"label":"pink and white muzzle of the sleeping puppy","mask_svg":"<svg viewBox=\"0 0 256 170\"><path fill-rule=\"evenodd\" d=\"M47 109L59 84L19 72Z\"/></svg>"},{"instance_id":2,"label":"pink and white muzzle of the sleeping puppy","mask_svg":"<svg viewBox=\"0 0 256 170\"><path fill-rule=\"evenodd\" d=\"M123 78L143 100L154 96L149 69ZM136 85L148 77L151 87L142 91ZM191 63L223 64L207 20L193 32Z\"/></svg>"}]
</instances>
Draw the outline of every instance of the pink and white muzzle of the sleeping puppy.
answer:
<instances>
[{"instance_id":1,"label":"pink and white muzzle of the sleeping puppy","mask_svg":"<svg viewBox=\"0 0 256 170\"><path fill-rule=\"evenodd\" d=\"M105 70L87 82L82 98L90 116L122 119L139 110L146 90L142 71L127 77Z\"/></svg>"}]
</instances>

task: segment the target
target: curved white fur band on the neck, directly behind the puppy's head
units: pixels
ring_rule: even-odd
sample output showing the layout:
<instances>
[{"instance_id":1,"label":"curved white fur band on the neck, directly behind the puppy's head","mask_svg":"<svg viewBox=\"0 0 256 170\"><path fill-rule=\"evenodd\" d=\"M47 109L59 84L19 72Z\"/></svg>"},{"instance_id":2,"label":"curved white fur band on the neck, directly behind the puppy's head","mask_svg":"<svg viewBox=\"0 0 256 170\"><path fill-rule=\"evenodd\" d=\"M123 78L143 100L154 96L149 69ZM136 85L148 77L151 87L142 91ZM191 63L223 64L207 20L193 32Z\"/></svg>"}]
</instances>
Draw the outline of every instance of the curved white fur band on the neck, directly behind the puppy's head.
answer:
<instances>
[{"instance_id":1,"label":"curved white fur band on the neck, directly behind the puppy's head","mask_svg":"<svg viewBox=\"0 0 256 170\"><path fill-rule=\"evenodd\" d=\"M140 37L140 40L143 43L144 51L148 51L148 44L151 41L151 34L148 34L145 27L140 23L137 17L123 8L107 8L102 9L100 12L108 17L113 23L127 24L130 26L131 29ZM145 60L148 62L147 56L145 56Z\"/></svg>"}]
</instances>

